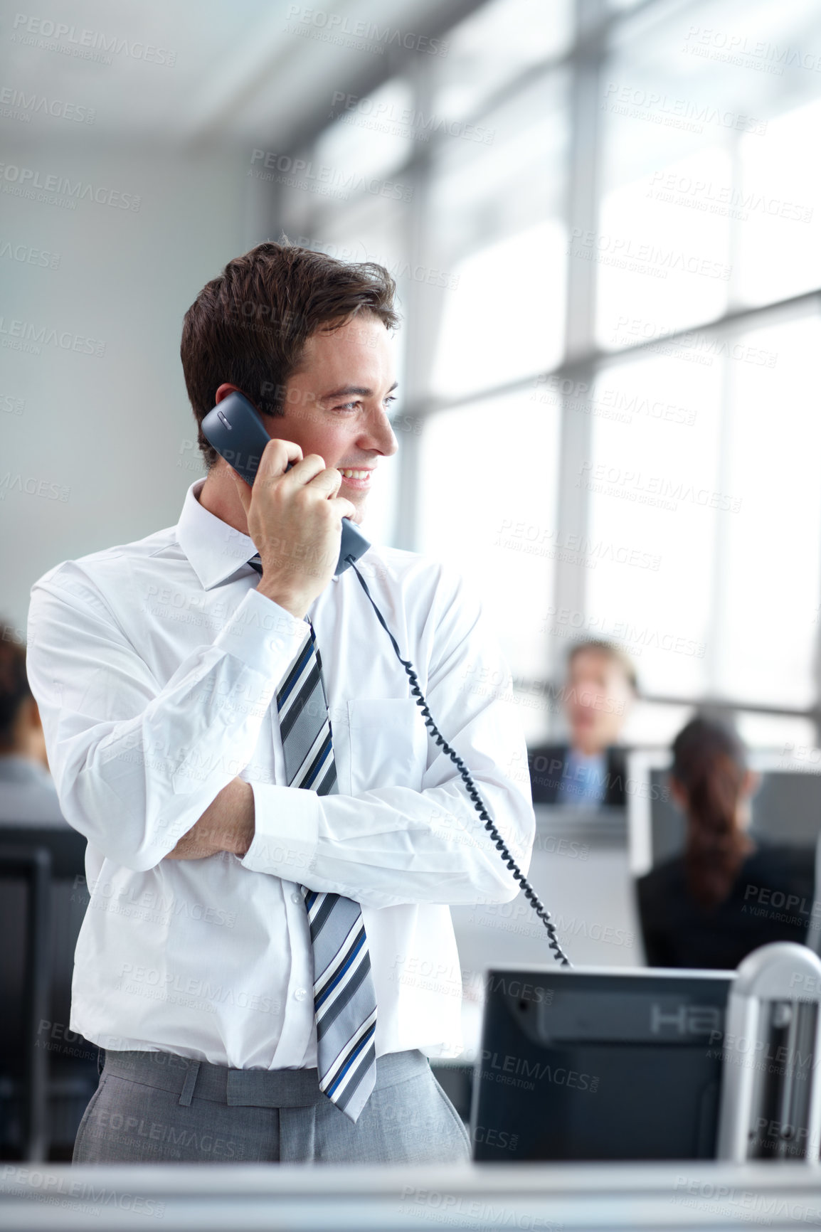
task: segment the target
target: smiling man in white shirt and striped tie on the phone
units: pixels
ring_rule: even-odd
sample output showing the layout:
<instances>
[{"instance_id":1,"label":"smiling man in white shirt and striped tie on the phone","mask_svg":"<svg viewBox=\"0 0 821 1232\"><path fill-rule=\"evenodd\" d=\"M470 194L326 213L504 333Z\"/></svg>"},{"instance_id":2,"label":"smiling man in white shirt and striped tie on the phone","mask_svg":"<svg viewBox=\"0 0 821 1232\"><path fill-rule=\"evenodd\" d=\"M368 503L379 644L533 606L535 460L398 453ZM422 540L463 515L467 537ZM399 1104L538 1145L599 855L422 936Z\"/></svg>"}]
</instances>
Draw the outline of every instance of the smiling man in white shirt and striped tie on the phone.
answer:
<instances>
[{"instance_id":1,"label":"smiling man in white shirt and striped tie on the phone","mask_svg":"<svg viewBox=\"0 0 821 1232\"><path fill-rule=\"evenodd\" d=\"M461 1048L449 906L517 883L334 575L397 450L393 293L288 244L229 261L181 359L197 425L232 391L261 414L253 488L200 428L175 526L32 588L31 686L88 838L70 1026L105 1060L75 1162L468 1158L427 1060ZM478 596L412 552L357 568L526 870L526 753L481 685L509 674Z\"/></svg>"}]
</instances>

